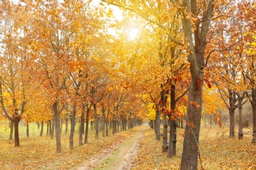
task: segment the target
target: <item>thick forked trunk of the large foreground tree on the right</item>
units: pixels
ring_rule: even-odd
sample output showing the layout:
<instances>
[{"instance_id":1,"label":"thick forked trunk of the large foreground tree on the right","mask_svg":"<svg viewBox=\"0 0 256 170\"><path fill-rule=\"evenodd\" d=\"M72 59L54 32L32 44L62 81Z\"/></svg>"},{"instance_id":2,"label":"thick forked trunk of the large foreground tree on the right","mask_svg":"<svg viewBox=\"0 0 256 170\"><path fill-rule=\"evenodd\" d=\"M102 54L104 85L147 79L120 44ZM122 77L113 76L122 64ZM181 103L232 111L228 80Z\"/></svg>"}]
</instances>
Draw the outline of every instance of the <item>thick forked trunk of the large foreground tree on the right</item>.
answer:
<instances>
[{"instance_id":1,"label":"thick forked trunk of the large foreground tree on the right","mask_svg":"<svg viewBox=\"0 0 256 170\"><path fill-rule=\"evenodd\" d=\"M206 3L206 1L205 1ZM184 0L182 7L186 9L188 14L198 17L198 2ZM205 5L206 7L206 5ZM182 29L184 37L188 42L186 47L188 54L188 62L190 63L191 82L188 92L188 109L186 113L186 127L184 132L184 143L181 158L181 170L198 169L199 135L200 123L202 117L202 84L203 84L203 68L205 67L205 46L207 44L207 34L214 10L214 0L207 1L207 9L203 12L201 23L196 21L196 28L193 30L192 21L188 18L188 14L183 13ZM206 20L205 20L206 19Z\"/></svg>"}]
</instances>

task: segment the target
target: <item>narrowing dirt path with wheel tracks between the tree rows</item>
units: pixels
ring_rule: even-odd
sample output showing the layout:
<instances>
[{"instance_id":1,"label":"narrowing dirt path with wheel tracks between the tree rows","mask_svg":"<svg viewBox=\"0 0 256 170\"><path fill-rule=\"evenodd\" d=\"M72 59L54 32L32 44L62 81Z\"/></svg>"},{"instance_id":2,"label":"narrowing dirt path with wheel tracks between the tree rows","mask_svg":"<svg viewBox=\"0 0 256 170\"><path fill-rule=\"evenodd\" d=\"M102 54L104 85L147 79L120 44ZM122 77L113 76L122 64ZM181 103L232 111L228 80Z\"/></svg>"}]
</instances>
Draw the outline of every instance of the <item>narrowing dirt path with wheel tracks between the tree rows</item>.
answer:
<instances>
[{"instance_id":1,"label":"narrowing dirt path with wheel tracks between the tree rows","mask_svg":"<svg viewBox=\"0 0 256 170\"><path fill-rule=\"evenodd\" d=\"M108 150L104 150L102 154L86 161L82 167L78 168L78 170L132 169L135 166L134 160L137 158L137 150L140 140L146 129L146 125L140 126L140 130L136 131L128 140L121 144L111 146Z\"/></svg>"}]
</instances>

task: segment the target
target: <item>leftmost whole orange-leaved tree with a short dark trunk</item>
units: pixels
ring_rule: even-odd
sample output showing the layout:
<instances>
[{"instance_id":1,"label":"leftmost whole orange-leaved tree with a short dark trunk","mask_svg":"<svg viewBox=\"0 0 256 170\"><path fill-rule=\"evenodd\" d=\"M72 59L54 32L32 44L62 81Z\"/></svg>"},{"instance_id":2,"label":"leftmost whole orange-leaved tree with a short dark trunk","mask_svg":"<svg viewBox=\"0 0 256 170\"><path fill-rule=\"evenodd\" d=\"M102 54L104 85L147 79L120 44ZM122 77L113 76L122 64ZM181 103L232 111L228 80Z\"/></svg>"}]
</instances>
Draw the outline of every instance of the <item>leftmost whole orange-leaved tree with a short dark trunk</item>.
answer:
<instances>
[{"instance_id":1,"label":"leftmost whole orange-leaved tree with a short dark trunk","mask_svg":"<svg viewBox=\"0 0 256 170\"><path fill-rule=\"evenodd\" d=\"M20 146L18 123L28 113L40 81L33 81L32 75L38 69L30 54L28 18L22 7L9 1L1 3L1 75L0 103L5 116L14 123L15 146ZM18 18L24 20L18 22Z\"/></svg>"}]
</instances>

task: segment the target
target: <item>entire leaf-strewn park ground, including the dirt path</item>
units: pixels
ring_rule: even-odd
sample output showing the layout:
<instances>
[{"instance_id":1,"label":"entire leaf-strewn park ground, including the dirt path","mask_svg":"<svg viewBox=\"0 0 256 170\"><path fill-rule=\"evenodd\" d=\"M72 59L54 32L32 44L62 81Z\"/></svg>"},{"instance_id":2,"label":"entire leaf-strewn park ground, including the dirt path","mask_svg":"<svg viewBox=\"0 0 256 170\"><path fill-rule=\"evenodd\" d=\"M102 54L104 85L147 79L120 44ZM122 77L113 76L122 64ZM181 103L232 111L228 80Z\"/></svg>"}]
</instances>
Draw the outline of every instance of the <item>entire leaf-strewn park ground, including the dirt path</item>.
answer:
<instances>
[{"instance_id":1,"label":"entire leaf-strewn park ground, including the dirt path","mask_svg":"<svg viewBox=\"0 0 256 170\"><path fill-rule=\"evenodd\" d=\"M1 131L0 131L1 132ZM0 138L1 169L179 169L184 129L177 130L177 156L167 158L147 124L127 131L75 145L70 150L68 133L62 134L62 153L56 154L50 136ZM39 133L38 133L39 134ZM251 143L251 129L244 129L244 139L228 138L228 127L202 127L200 132L200 169L256 169L256 144ZM75 143L78 139L75 137Z\"/></svg>"}]
</instances>

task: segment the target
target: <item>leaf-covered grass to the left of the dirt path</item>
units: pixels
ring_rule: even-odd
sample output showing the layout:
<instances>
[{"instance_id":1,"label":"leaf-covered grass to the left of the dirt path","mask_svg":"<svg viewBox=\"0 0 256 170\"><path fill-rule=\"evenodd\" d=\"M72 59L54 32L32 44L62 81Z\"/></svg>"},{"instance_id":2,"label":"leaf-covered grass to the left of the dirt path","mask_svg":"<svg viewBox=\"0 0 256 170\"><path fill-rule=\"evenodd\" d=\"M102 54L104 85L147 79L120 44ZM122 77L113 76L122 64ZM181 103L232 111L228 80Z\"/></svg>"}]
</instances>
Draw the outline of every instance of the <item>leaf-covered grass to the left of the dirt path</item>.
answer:
<instances>
[{"instance_id":1,"label":"leaf-covered grass to the left of the dirt path","mask_svg":"<svg viewBox=\"0 0 256 170\"><path fill-rule=\"evenodd\" d=\"M23 128L26 129L20 126L21 134ZM75 169L109 146L122 143L131 136L131 133L133 129L115 135L109 131L109 137L103 138L100 133L100 139L95 140L94 131L89 130L89 143L78 146L79 136L76 130L75 147L72 150L69 148L69 135L62 133L61 154L56 154L55 138L51 139L49 135L39 137L39 133L35 132L35 136L20 137L20 147L14 147L14 140L9 140L8 135L7 139L0 139L0 167L1 169Z\"/></svg>"}]
</instances>

